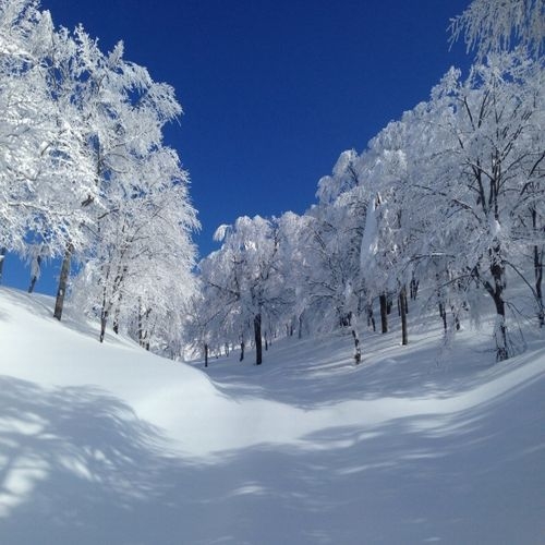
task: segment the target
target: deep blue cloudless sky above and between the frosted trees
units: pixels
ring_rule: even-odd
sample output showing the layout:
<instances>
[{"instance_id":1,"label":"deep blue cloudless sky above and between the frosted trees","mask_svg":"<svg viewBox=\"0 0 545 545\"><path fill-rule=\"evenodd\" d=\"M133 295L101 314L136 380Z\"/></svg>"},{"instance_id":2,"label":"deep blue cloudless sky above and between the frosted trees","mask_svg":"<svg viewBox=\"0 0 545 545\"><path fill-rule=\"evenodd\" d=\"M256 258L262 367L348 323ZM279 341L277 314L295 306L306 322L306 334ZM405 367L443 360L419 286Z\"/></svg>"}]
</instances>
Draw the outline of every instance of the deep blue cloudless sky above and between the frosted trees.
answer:
<instances>
[{"instance_id":1,"label":"deep blue cloudless sky above and between the frosted trees","mask_svg":"<svg viewBox=\"0 0 545 545\"><path fill-rule=\"evenodd\" d=\"M361 152L425 100L452 64L449 19L469 0L43 0L57 26L82 23L102 49L177 89L167 131L192 179L201 254L241 215L303 213L339 154ZM5 283L26 288L20 268ZM52 292L44 278L38 291Z\"/></svg>"}]
</instances>

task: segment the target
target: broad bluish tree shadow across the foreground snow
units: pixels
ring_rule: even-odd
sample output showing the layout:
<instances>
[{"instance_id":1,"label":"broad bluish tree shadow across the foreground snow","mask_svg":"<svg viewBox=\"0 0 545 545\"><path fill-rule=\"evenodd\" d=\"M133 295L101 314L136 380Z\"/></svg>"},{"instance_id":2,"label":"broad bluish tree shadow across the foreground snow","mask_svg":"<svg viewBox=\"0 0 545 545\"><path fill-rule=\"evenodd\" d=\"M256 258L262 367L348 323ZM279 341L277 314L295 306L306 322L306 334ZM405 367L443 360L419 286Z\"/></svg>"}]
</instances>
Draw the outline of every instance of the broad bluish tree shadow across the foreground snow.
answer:
<instances>
[{"instance_id":1,"label":"broad bluish tree shadow across the foreground snow","mask_svg":"<svg viewBox=\"0 0 545 545\"><path fill-rule=\"evenodd\" d=\"M540 543L542 392L190 459L98 389L2 377L0 543Z\"/></svg>"}]
</instances>

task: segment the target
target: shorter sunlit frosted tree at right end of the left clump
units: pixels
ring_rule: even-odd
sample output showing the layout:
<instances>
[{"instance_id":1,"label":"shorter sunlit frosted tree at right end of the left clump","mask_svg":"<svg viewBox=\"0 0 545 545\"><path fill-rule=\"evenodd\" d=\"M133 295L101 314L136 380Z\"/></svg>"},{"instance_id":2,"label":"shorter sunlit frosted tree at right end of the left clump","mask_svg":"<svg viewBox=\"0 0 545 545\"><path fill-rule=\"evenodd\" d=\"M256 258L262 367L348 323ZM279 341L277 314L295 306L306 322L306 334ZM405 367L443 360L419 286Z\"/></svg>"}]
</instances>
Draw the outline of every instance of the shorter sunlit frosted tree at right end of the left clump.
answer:
<instances>
[{"instance_id":1,"label":"shorter sunlit frosted tree at right end of the left clump","mask_svg":"<svg viewBox=\"0 0 545 545\"><path fill-rule=\"evenodd\" d=\"M162 327L159 316L173 315L177 308L170 303L180 310L193 293L195 247L190 234L198 222L174 150L159 149L134 167L130 194L121 183L108 189L110 209L99 218L77 289L85 294L87 312L99 314L100 341L113 319L116 330L120 323L125 329L131 322L140 324L136 337L149 347L153 330ZM177 283L180 298L171 291ZM154 328L145 327L150 320Z\"/></svg>"}]
</instances>

